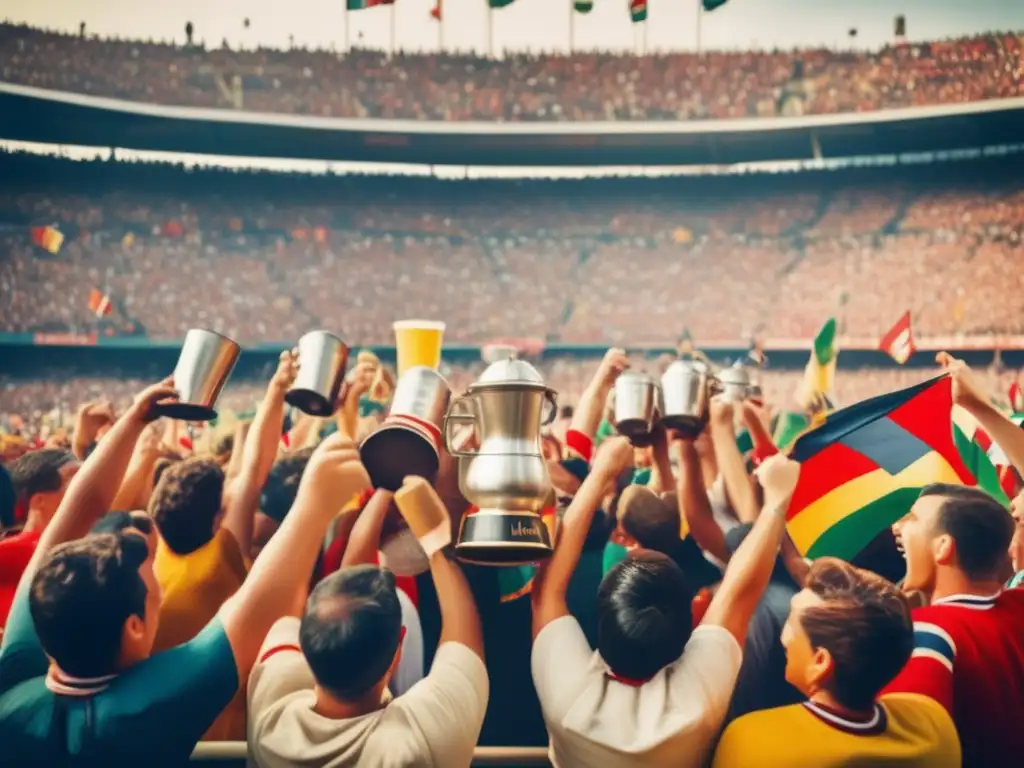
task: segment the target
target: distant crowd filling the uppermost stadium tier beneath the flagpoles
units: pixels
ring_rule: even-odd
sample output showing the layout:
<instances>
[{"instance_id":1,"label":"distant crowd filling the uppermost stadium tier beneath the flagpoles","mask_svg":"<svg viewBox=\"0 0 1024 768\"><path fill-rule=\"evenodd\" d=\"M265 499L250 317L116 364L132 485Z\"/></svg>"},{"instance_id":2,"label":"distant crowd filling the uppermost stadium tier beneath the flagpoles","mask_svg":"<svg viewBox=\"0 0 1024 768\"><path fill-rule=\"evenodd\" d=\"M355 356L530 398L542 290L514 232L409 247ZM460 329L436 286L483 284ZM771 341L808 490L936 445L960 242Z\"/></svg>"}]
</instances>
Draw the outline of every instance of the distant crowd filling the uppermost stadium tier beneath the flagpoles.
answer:
<instances>
[{"instance_id":1,"label":"distant crowd filling the uppermost stadium tier beneath the flagpoles","mask_svg":"<svg viewBox=\"0 0 1024 768\"><path fill-rule=\"evenodd\" d=\"M0 26L0 81L189 106L403 120L715 120L1017 96L1021 37L873 52L465 54L230 50Z\"/></svg>"}]
</instances>

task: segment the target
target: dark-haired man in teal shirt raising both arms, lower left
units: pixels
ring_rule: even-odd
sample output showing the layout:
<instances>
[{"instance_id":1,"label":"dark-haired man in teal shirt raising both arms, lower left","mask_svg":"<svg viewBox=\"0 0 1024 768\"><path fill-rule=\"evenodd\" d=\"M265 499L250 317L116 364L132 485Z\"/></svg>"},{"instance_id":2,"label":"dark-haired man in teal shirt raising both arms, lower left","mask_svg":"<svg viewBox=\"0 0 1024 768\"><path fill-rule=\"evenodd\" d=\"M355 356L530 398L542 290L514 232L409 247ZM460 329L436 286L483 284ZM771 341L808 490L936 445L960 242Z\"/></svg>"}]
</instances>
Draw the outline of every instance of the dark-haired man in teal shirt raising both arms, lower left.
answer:
<instances>
[{"instance_id":1,"label":"dark-haired man in teal shirt raising both arms, lower left","mask_svg":"<svg viewBox=\"0 0 1024 768\"><path fill-rule=\"evenodd\" d=\"M161 600L153 550L127 527L87 535L116 498L156 404L174 397L166 380L118 420L71 483L18 585L0 646L5 765L187 762L304 587L338 513L330 500L369 486L355 446L326 440L296 508L239 593L195 639L151 655Z\"/></svg>"}]
</instances>

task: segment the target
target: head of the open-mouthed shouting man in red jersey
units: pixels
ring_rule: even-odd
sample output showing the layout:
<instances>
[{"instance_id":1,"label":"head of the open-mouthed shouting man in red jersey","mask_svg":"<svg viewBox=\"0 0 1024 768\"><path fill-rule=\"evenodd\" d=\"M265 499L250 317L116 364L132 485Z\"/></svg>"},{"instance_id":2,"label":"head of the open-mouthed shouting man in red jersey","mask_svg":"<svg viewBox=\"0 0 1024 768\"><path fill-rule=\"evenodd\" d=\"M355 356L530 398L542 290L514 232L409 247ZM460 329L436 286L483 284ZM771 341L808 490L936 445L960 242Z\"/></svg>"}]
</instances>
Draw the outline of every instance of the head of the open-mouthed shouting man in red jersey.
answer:
<instances>
[{"instance_id":1,"label":"head of the open-mouthed shouting man in red jersey","mask_svg":"<svg viewBox=\"0 0 1024 768\"><path fill-rule=\"evenodd\" d=\"M1001 582L1010 570L1013 517L981 488L927 485L894 528L906 557L907 589L931 593L940 570L955 574L947 584Z\"/></svg>"}]
</instances>

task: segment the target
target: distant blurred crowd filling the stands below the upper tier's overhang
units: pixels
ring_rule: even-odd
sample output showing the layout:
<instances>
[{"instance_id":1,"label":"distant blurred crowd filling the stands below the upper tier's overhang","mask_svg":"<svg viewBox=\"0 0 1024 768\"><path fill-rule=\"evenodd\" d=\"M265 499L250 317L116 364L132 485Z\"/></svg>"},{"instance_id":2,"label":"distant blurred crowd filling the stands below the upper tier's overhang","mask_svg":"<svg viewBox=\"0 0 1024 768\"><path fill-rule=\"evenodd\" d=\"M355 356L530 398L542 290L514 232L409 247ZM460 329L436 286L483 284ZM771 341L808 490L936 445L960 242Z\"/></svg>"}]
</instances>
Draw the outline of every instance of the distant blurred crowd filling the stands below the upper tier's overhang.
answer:
<instances>
[{"instance_id":1,"label":"distant blurred crowd filling the stands below the upper tier's overhang","mask_svg":"<svg viewBox=\"0 0 1024 768\"><path fill-rule=\"evenodd\" d=\"M322 327L372 345L391 343L398 313L444 321L450 342L629 345L684 329L708 343L759 328L807 339L829 315L879 338L905 310L919 337L1024 330L1024 188L1010 161L954 171L981 182L883 172L698 189L7 162L8 332L174 340L201 325L251 343ZM60 230L57 253L34 243L39 226ZM98 324L93 290L113 308Z\"/></svg>"}]
</instances>

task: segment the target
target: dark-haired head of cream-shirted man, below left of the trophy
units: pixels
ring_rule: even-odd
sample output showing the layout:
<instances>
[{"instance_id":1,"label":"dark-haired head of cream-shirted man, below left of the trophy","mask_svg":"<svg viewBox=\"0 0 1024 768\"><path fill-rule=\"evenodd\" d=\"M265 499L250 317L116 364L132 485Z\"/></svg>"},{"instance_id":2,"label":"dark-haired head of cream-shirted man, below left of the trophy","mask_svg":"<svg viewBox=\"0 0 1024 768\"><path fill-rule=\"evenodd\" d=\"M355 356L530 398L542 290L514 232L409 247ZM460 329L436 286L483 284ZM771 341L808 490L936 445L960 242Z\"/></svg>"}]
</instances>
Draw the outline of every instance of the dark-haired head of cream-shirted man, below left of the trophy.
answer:
<instances>
[{"instance_id":1,"label":"dark-haired head of cream-shirted man, below left of the trophy","mask_svg":"<svg viewBox=\"0 0 1024 768\"><path fill-rule=\"evenodd\" d=\"M362 696L387 673L398 650L401 605L394 574L354 565L313 590L299 629L316 682L345 701Z\"/></svg>"}]
</instances>

